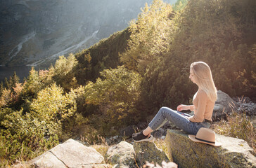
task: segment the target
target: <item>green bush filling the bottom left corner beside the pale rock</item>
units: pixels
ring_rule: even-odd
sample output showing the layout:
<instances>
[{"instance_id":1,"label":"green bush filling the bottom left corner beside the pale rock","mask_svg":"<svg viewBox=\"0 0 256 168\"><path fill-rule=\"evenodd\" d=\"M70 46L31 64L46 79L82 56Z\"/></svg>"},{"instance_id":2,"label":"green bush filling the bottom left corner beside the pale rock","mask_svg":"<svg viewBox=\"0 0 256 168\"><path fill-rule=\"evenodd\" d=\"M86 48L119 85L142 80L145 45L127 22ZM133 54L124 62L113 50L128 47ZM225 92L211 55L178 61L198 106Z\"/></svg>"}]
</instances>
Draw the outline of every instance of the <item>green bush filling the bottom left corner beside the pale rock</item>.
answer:
<instances>
[{"instance_id":1,"label":"green bush filling the bottom left corner beside the pale rock","mask_svg":"<svg viewBox=\"0 0 256 168\"><path fill-rule=\"evenodd\" d=\"M30 160L58 144L58 137L45 137L45 123L23 110L5 108L0 111L0 167L17 160Z\"/></svg>"}]
</instances>

